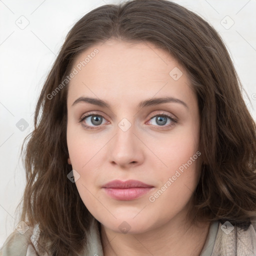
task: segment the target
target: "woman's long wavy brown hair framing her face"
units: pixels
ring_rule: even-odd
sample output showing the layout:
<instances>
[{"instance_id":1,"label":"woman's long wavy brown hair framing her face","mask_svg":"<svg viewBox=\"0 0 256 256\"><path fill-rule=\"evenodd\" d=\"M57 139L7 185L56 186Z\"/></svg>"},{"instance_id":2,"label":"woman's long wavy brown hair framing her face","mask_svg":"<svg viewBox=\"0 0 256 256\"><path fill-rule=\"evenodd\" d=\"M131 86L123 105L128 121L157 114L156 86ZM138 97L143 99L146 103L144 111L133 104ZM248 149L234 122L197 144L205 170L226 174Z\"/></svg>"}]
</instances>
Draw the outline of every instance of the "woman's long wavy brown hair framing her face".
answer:
<instances>
[{"instance_id":1,"label":"woman's long wavy brown hair framing her face","mask_svg":"<svg viewBox=\"0 0 256 256\"><path fill-rule=\"evenodd\" d=\"M256 216L256 127L242 86L215 29L167 0L132 0L97 7L68 32L36 104L34 130L22 145L26 186L20 220L39 223L39 244L52 255L76 255L86 246L93 216L67 174L67 88L49 94L70 73L79 53L110 38L151 42L187 71L200 112L200 178L194 222L229 220L247 228ZM48 95L48 96L47 96ZM21 203L20 202L20 203Z\"/></svg>"}]
</instances>

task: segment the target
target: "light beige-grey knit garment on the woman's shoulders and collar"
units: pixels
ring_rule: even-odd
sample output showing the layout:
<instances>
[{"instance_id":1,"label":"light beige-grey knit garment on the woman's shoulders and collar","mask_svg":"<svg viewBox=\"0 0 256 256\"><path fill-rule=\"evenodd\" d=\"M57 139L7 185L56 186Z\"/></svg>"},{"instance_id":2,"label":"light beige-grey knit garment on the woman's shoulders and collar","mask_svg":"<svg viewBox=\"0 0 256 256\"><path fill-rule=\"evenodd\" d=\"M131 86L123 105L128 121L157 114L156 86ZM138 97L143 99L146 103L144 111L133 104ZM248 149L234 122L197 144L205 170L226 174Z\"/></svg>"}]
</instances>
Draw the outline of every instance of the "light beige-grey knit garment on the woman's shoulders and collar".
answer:
<instances>
[{"instance_id":1,"label":"light beige-grey knit garment on the woman's shoulders and collar","mask_svg":"<svg viewBox=\"0 0 256 256\"><path fill-rule=\"evenodd\" d=\"M228 222L229 223L229 222ZM210 224L204 247L199 256L256 256L256 221L243 231L228 223L219 221ZM237 239L235 239L235 233ZM24 234L18 231L11 239L6 239L1 256L50 256L38 253L38 225L29 228ZM97 221L93 218L88 236L88 246L79 256L103 256ZM156 256L156 255L155 255Z\"/></svg>"}]
</instances>

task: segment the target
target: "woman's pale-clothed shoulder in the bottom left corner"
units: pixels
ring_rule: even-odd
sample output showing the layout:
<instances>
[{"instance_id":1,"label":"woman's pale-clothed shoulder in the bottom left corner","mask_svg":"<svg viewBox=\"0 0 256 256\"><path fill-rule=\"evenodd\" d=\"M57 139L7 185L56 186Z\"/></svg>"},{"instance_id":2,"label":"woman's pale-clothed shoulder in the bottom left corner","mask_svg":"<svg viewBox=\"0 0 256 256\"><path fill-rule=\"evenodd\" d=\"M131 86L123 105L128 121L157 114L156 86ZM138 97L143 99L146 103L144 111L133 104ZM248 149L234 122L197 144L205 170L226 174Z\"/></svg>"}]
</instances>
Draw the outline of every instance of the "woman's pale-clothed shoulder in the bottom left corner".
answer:
<instances>
[{"instance_id":1,"label":"woman's pale-clothed shoulder in the bottom left corner","mask_svg":"<svg viewBox=\"0 0 256 256\"><path fill-rule=\"evenodd\" d=\"M18 230L13 231L4 241L0 248L0 256L35 256L36 251L31 237L34 228L29 226L23 233Z\"/></svg>"}]
</instances>

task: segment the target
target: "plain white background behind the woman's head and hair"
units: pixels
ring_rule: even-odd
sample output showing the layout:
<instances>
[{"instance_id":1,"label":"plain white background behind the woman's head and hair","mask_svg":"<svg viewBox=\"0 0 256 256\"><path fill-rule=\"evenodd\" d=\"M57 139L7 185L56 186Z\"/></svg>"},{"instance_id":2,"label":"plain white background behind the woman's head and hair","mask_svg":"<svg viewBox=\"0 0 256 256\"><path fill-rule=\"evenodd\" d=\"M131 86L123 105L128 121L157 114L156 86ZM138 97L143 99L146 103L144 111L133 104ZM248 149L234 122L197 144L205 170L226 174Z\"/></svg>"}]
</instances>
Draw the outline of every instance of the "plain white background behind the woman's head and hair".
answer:
<instances>
[{"instance_id":1,"label":"plain white background behind the woman's head and hair","mask_svg":"<svg viewBox=\"0 0 256 256\"><path fill-rule=\"evenodd\" d=\"M256 0L174 1L199 14L220 33L251 100L250 105L245 98L255 120ZM14 211L25 186L20 147L33 129L35 103L47 72L65 35L80 17L100 5L118 2L0 0L0 246L17 224ZM229 29L223 26L232 22ZM21 118L28 124L23 131L16 127Z\"/></svg>"}]
</instances>

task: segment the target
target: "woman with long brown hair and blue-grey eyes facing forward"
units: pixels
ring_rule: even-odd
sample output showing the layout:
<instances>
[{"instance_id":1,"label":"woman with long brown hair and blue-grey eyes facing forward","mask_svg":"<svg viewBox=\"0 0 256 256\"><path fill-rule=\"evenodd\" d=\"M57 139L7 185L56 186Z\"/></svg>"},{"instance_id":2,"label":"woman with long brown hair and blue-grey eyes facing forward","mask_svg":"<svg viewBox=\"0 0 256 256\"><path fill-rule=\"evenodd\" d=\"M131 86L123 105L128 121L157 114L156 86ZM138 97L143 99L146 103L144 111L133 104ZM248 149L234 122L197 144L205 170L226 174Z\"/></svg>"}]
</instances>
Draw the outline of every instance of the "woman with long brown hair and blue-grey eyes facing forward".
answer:
<instances>
[{"instance_id":1,"label":"woman with long brown hair and blue-grey eyes facing forward","mask_svg":"<svg viewBox=\"0 0 256 256\"><path fill-rule=\"evenodd\" d=\"M2 255L255 255L256 127L217 32L170 1L69 31Z\"/></svg>"}]
</instances>

